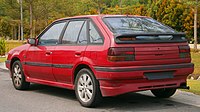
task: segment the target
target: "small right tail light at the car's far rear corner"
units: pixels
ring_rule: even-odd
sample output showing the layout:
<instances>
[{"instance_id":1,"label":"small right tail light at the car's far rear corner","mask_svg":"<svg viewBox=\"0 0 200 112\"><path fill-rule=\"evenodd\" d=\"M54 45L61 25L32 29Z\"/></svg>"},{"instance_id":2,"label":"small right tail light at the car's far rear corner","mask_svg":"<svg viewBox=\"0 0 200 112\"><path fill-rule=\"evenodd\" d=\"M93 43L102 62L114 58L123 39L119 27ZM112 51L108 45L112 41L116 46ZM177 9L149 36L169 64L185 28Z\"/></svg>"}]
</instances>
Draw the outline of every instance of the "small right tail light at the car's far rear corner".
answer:
<instances>
[{"instance_id":1,"label":"small right tail light at the car's far rear corner","mask_svg":"<svg viewBox=\"0 0 200 112\"><path fill-rule=\"evenodd\" d=\"M190 58L190 47L189 46L179 46L179 57L180 58Z\"/></svg>"}]
</instances>

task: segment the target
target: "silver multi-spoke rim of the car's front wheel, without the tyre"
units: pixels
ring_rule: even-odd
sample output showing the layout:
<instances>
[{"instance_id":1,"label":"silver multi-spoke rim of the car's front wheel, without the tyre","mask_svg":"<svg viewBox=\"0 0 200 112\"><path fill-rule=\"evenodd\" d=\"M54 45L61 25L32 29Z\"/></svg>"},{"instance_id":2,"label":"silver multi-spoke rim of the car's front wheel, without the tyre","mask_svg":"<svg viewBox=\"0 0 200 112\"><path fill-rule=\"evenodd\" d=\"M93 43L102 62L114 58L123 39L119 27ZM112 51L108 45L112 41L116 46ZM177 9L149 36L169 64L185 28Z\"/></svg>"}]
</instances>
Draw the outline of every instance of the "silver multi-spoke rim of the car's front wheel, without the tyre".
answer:
<instances>
[{"instance_id":1,"label":"silver multi-spoke rim of the car's front wheel, without the tyre","mask_svg":"<svg viewBox=\"0 0 200 112\"><path fill-rule=\"evenodd\" d=\"M14 66L13 69L13 83L15 86L19 87L22 82L22 72L18 64Z\"/></svg>"}]
</instances>

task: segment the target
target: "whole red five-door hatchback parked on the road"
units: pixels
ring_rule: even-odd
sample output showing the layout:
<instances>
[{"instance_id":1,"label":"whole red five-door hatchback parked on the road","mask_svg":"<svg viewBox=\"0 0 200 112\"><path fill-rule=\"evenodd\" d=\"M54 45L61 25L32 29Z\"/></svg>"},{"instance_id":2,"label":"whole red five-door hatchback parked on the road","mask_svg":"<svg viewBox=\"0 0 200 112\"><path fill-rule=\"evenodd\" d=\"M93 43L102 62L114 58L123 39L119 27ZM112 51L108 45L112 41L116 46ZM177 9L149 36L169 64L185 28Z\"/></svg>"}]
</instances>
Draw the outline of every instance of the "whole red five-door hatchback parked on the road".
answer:
<instances>
[{"instance_id":1,"label":"whole red five-door hatchback parked on the road","mask_svg":"<svg viewBox=\"0 0 200 112\"><path fill-rule=\"evenodd\" d=\"M75 90L85 107L106 96L151 90L168 98L193 72L184 33L143 16L63 18L8 53L13 85L31 83Z\"/></svg>"}]
</instances>

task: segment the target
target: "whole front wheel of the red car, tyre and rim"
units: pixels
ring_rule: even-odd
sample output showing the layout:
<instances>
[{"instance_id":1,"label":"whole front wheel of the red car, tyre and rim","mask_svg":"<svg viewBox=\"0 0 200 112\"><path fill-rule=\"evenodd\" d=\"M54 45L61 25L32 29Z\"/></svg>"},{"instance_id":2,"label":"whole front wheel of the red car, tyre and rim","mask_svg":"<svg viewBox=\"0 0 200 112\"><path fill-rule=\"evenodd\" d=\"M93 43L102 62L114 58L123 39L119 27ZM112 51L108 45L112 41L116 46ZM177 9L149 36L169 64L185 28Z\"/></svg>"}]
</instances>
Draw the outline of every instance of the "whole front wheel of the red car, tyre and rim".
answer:
<instances>
[{"instance_id":1,"label":"whole front wheel of the red car, tyre and rim","mask_svg":"<svg viewBox=\"0 0 200 112\"><path fill-rule=\"evenodd\" d=\"M20 61L15 61L12 65L12 82L17 90L25 90L29 88L30 83L26 82L22 65Z\"/></svg>"}]
</instances>

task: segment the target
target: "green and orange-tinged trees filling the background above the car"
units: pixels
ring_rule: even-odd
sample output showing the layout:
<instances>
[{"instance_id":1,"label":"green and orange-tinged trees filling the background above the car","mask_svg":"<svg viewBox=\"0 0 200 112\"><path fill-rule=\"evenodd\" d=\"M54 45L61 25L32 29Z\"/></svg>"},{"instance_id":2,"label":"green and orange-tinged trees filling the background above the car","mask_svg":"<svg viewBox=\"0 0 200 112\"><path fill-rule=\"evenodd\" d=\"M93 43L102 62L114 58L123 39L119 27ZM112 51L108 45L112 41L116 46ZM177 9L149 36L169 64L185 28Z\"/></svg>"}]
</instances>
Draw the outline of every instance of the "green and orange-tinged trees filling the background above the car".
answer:
<instances>
[{"instance_id":1,"label":"green and orange-tinged trees filling the background above the car","mask_svg":"<svg viewBox=\"0 0 200 112\"><path fill-rule=\"evenodd\" d=\"M131 14L150 16L193 39L195 0L23 0L24 37L36 37L58 18L88 14ZM30 27L30 6L33 26ZM198 8L198 18L200 17ZM20 40L20 4L0 0L0 37ZM200 19L198 19L200 35Z\"/></svg>"}]
</instances>

